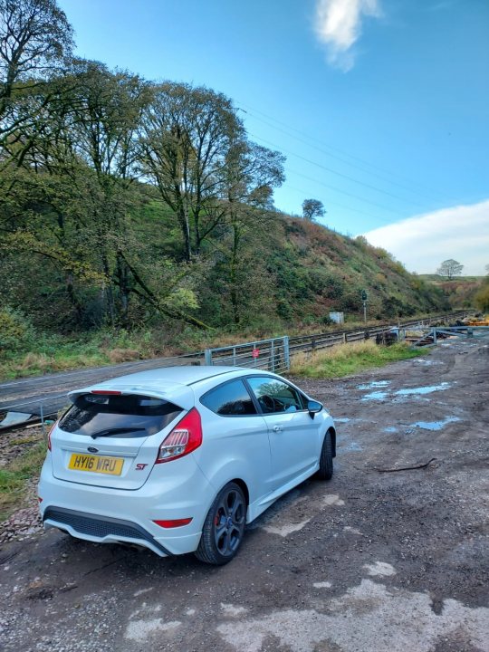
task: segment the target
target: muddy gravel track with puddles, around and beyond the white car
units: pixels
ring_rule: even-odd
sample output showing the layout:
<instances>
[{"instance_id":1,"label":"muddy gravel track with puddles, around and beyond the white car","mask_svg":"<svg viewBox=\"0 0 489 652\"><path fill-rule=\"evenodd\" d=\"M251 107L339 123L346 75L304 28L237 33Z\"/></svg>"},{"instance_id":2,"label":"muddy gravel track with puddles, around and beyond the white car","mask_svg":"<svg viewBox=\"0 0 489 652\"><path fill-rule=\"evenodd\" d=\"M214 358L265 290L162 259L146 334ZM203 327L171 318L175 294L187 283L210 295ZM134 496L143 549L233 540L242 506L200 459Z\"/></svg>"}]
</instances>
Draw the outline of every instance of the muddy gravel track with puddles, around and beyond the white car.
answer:
<instances>
[{"instance_id":1,"label":"muddy gravel track with puddles, around and beyond the white car","mask_svg":"<svg viewBox=\"0 0 489 652\"><path fill-rule=\"evenodd\" d=\"M333 480L273 505L224 568L53 531L6 544L0 648L489 650L488 343L302 381L337 419Z\"/></svg>"}]
</instances>

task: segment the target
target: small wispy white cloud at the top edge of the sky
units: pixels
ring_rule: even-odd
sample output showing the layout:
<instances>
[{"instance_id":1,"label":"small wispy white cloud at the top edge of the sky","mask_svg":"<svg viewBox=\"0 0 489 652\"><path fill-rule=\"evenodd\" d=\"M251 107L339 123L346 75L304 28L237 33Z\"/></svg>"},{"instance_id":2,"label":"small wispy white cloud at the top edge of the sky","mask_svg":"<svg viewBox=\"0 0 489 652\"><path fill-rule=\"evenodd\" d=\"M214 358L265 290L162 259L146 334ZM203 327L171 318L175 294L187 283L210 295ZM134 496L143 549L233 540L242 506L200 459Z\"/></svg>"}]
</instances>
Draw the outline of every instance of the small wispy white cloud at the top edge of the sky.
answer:
<instances>
[{"instance_id":1,"label":"small wispy white cloud at the top edge of the sky","mask_svg":"<svg viewBox=\"0 0 489 652\"><path fill-rule=\"evenodd\" d=\"M328 62L344 72L355 62L351 47L360 37L363 15L379 16L379 0L317 0L316 35L326 45Z\"/></svg>"}]
</instances>

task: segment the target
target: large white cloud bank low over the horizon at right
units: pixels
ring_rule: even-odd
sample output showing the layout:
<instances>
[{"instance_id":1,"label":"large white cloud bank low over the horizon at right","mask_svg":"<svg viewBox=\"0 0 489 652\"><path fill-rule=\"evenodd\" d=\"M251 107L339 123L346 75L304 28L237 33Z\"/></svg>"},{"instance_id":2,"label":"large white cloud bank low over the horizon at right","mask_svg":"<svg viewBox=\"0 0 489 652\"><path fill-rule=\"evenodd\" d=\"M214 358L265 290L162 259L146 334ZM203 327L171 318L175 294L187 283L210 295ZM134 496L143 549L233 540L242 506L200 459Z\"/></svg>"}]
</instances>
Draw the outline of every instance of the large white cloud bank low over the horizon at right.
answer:
<instances>
[{"instance_id":1,"label":"large white cloud bank low over the horizon at right","mask_svg":"<svg viewBox=\"0 0 489 652\"><path fill-rule=\"evenodd\" d=\"M436 273L440 263L455 258L464 265L463 274L482 275L489 264L489 199L409 217L363 235L412 272Z\"/></svg>"}]
</instances>

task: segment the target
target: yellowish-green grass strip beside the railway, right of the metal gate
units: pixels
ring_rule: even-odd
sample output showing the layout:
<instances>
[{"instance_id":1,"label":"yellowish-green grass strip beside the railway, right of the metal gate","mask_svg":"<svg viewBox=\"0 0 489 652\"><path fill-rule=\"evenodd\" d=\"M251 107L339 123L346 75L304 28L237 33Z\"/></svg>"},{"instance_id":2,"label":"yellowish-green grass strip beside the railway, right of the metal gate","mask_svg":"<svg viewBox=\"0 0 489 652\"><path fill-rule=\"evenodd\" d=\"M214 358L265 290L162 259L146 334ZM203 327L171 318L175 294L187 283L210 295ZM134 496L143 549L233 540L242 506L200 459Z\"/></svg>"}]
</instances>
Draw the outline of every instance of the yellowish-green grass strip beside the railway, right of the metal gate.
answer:
<instances>
[{"instance_id":1,"label":"yellowish-green grass strip beside the railway, right of the metal gate","mask_svg":"<svg viewBox=\"0 0 489 652\"><path fill-rule=\"evenodd\" d=\"M341 378L390 362L419 358L424 352L412 350L404 343L386 347L371 340L351 342L315 353L299 353L292 358L291 374L312 379Z\"/></svg>"}]
</instances>

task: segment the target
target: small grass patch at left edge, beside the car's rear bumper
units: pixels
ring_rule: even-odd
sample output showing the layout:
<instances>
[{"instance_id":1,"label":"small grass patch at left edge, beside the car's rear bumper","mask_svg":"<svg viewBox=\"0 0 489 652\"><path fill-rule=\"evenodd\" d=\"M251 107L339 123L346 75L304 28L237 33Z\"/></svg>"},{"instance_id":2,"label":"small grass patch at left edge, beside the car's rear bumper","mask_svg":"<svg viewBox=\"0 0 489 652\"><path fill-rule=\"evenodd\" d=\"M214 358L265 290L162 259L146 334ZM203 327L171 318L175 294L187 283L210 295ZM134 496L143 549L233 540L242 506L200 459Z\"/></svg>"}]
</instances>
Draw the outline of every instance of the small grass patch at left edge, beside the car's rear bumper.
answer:
<instances>
[{"instance_id":1,"label":"small grass patch at left edge, beside the car's rear bumper","mask_svg":"<svg viewBox=\"0 0 489 652\"><path fill-rule=\"evenodd\" d=\"M0 522L24 507L30 482L41 473L46 445L40 441L0 469Z\"/></svg>"}]
</instances>

